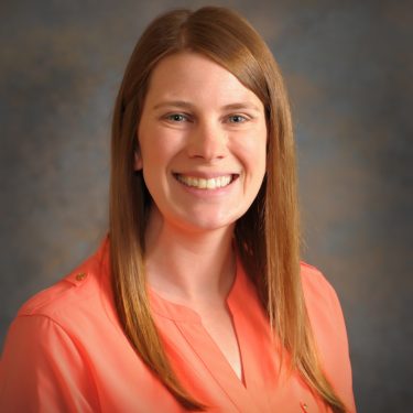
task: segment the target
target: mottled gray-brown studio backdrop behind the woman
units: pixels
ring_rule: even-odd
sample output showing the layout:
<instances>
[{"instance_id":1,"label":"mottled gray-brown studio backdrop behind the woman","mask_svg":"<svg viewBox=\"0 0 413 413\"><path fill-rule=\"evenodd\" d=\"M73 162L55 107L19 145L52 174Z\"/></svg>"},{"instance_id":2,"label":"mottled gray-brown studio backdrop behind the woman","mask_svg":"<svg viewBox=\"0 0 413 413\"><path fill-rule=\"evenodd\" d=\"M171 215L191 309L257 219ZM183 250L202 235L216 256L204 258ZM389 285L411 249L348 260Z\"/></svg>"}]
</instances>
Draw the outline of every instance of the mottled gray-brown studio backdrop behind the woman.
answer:
<instances>
[{"instance_id":1,"label":"mottled gray-brown studio backdrop behind the woman","mask_svg":"<svg viewBox=\"0 0 413 413\"><path fill-rule=\"evenodd\" d=\"M132 47L203 1L1 1L1 336L107 229L112 105ZM306 260L336 287L360 412L413 411L412 7L222 1L273 50L291 91ZM410 265L409 265L410 264Z\"/></svg>"}]
</instances>

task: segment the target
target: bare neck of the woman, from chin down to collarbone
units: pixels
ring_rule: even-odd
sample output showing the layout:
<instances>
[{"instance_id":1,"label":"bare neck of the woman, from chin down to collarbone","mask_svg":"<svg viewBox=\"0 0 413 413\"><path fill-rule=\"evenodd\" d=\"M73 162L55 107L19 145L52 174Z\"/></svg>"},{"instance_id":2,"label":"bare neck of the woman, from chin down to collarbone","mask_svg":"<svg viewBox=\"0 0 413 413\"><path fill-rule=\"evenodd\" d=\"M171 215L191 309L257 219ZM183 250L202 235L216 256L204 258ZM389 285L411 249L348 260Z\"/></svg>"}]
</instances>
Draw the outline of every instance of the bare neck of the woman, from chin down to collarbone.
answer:
<instances>
[{"instance_id":1,"label":"bare neck of the woman, from chin down to collarbone","mask_svg":"<svg viewBox=\"0 0 413 413\"><path fill-rule=\"evenodd\" d=\"M154 209L146 229L150 286L176 303L225 301L233 282L233 226L191 231L169 225Z\"/></svg>"}]
</instances>

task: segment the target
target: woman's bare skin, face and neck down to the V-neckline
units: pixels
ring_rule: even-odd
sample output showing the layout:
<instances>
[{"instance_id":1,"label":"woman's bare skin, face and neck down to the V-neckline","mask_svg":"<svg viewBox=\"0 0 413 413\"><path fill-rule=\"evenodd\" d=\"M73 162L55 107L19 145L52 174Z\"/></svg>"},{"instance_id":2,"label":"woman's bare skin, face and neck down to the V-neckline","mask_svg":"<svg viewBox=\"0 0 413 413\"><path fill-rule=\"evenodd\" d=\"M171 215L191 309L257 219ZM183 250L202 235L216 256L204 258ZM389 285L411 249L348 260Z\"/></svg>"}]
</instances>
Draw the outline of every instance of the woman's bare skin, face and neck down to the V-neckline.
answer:
<instances>
[{"instance_id":1,"label":"woman's bare skin, face and neck down to the V-neckline","mask_svg":"<svg viewBox=\"0 0 413 413\"><path fill-rule=\"evenodd\" d=\"M235 222L265 174L263 105L209 58L175 54L152 72L138 140L135 170L142 170L154 200L146 231L149 284L198 313L241 379L226 297L236 272Z\"/></svg>"}]
</instances>

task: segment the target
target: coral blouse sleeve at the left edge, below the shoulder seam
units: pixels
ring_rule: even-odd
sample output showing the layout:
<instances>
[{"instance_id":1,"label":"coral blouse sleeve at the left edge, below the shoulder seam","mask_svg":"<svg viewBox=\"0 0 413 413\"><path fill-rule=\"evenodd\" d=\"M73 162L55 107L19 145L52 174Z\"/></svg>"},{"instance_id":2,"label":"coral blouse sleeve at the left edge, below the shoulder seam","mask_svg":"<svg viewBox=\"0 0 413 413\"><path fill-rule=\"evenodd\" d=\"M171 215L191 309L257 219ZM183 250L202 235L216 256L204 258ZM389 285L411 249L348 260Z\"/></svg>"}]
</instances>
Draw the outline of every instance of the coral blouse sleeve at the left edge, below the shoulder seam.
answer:
<instances>
[{"instance_id":1,"label":"coral blouse sleeve at the left edge, below the shoulder seam","mask_svg":"<svg viewBox=\"0 0 413 413\"><path fill-rule=\"evenodd\" d=\"M11 325L0 365L0 411L98 412L87 362L69 335L42 315Z\"/></svg>"}]
</instances>

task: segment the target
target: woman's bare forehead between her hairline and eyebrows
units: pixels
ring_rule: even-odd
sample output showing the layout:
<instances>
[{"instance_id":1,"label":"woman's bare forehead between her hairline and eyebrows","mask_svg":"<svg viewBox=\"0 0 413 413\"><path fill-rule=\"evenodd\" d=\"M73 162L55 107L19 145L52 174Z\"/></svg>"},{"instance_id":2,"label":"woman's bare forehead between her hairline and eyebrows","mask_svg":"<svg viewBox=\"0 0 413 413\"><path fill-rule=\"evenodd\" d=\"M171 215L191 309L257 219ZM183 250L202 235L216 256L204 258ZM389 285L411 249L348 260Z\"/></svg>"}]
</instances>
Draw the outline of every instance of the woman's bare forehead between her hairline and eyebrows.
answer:
<instances>
[{"instance_id":1,"label":"woman's bare forehead between her hairline and eyebrows","mask_svg":"<svg viewBox=\"0 0 413 413\"><path fill-rule=\"evenodd\" d=\"M166 56L153 68L146 100L159 99L189 99L217 105L228 105L232 100L261 104L232 73L194 52Z\"/></svg>"}]
</instances>

